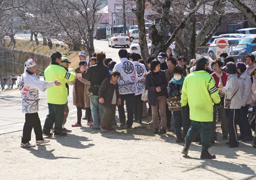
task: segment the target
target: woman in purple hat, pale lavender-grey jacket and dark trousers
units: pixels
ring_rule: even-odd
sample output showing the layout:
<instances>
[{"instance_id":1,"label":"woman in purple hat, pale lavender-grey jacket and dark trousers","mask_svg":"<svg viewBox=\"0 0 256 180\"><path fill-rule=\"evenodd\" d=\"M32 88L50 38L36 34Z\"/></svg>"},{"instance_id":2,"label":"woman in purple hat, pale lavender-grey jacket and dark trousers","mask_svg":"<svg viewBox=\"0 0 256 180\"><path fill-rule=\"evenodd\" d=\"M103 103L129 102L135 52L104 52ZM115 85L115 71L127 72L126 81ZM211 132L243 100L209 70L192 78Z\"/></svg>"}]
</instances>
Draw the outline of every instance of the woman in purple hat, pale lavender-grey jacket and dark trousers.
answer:
<instances>
[{"instance_id":1,"label":"woman in purple hat, pale lavender-grey jacket and dark trousers","mask_svg":"<svg viewBox=\"0 0 256 180\"><path fill-rule=\"evenodd\" d=\"M247 75L245 63L238 62L236 67L238 71L239 90L242 95L242 107L240 109L240 118L238 121L240 127L240 135L238 136L238 140L251 141L251 127L247 118L248 109L252 102L251 80Z\"/></svg>"}]
</instances>

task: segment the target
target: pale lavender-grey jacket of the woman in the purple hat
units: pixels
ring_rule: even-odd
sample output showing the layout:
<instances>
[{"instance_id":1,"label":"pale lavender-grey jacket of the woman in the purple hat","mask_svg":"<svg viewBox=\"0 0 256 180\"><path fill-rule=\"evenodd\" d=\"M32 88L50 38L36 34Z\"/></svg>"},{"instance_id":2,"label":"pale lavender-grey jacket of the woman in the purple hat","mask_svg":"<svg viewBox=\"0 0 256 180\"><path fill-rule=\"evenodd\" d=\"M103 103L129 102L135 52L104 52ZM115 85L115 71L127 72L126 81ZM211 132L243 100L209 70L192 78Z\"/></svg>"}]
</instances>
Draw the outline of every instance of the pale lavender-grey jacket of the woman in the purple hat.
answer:
<instances>
[{"instance_id":1,"label":"pale lavender-grey jacket of the woman in the purple hat","mask_svg":"<svg viewBox=\"0 0 256 180\"><path fill-rule=\"evenodd\" d=\"M238 78L239 90L242 97L242 106L250 105L251 98L251 79L247 75L247 72L243 72Z\"/></svg>"}]
</instances>

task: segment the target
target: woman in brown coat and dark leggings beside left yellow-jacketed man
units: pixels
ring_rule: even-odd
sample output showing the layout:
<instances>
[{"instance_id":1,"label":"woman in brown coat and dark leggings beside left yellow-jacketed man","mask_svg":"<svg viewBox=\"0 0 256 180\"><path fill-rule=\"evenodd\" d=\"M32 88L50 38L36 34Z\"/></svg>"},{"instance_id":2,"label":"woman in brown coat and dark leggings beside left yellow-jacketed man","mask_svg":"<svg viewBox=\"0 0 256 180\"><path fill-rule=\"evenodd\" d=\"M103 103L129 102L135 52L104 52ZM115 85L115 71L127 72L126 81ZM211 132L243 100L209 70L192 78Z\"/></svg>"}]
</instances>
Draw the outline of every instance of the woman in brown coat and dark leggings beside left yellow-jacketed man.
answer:
<instances>
[{"instance_id":1,"label":"woman in brown coat and dark leggings beside left yellow-jacketed man","mask_svg":"<svg viewBox=\"0 0 256 180\"><path fill-rule=\"evenodd\" d=\"M75 72L80 74L77 79L68 83L73 86L73 105L77 108L77 122L72 124L72 127L82 126L81 117L82 109L87 110L88 123L91 121L91 109L90 109L90 82L85 79L86 69L88 65L86 61L80 61L79 67L75 69ZM77 81L78 80L78 81Z\"/></svg>"}]
</instances>

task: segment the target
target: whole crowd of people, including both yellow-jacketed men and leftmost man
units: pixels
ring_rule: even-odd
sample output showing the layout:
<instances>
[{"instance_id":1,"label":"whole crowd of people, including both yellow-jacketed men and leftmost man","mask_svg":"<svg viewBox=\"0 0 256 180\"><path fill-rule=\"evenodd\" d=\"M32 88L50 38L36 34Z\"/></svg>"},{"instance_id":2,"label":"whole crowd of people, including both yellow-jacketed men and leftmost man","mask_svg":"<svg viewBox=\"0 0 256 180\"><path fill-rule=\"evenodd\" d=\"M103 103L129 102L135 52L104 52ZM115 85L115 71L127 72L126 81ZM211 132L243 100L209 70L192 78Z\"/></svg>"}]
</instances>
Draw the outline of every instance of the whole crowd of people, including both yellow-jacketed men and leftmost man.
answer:
<instances>
[{"instance_id":1,"label":"whole crowd of people, including both yellow-jacketed men and leftmost man","mask_svg":"<svg viewBox=\"0 0 256 180\"><path fill-rule=\"evenodd\" d=\"M29 142L32 128L37 145L49 142L42 136L52 137L54 133L55 137L60 137L72 132L65 127L69 85L73 85L73 105L77 108L77 122L72 127L82 126L81 120L86 119L94 130L115 131L117 106L120 127L132 128L134 122L142 123L142 118L146 117L147 105L141 98L147 90L153 133L169 132L173 116L176 142L184 143L184 155L191 142L199 139L203 146L201 158L216 158L208 149L217 140L217 121L221 121L222 139L228 140L228 147L238 147L240 140L253 140L255 124L253 120L251 124L248 121L248 111L256 109L256 66L252 54L246 56L246 64L235 63L224 53L215 60L192 59L189 65L184 56L173 56L172 49L160 52L156 58L148 58L146 63L139 54L127 53L124 48L119 50L118 56L120 62L116 63L106 58L104 52L93 54L90 59L86 52L80 52L78 67L69 72L71 62L54 52L45 70L45 81L35 78L36 64L29 59L19 80L22 111L26 113L20 146L35 146ZM38 90L47 90L49 114L43 128L37 114ZM170 101L180 104L170 111ZM253 147L256 147L255 139Z\"/></svg>"}]
</instances>

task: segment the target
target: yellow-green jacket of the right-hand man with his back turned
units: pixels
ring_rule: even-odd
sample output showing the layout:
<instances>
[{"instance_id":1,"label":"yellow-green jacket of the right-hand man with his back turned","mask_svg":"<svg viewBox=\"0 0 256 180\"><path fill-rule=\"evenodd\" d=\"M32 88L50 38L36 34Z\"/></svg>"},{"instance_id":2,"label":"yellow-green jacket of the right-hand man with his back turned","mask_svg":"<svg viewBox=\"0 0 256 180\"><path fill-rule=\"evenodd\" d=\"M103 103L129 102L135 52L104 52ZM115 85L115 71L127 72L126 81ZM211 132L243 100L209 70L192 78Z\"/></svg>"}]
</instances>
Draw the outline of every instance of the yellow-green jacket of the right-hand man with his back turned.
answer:
<instances>
[{"instance_id":1,"label":"yellow-green jacket of the right-hand man with his back turned","mask_svg":"<svg viewBox=\"0 0 256 180\"><path fill-rule=\"evenodd\" d=\"M208 122L213 120L213 102L221 101L219 90L212 76L204 71L195 71L187 75L181 94L181 106L189 105L191 120Z\"/></svg>"}]
</instances>

